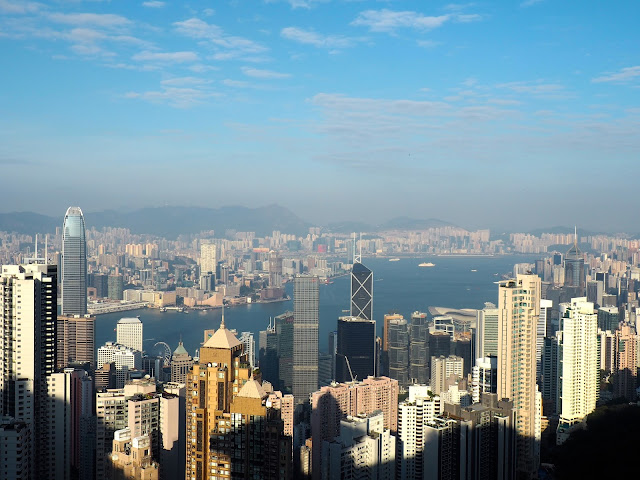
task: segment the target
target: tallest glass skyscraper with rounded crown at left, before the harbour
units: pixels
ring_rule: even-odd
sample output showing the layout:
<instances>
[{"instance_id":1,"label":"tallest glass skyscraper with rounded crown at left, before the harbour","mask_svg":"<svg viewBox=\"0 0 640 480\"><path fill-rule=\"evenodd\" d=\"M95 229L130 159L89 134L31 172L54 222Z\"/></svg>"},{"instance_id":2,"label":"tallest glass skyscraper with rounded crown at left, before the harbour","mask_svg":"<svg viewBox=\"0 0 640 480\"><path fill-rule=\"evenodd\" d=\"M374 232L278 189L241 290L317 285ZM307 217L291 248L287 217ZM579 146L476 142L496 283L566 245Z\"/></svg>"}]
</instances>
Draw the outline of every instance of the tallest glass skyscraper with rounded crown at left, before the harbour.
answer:
<instances>
[{"instance_id":1,"label":"tallest glass skyscraper with rounded crown at left, before the harbour","mask_svg":"<svg viewBox=\"0 0 640 480\"><path fill-rule=\"evenodd\" d=\"M87 313L87 241L80 207L69 207L62 224L62 314Z\"/></svg>"}]
</instances>

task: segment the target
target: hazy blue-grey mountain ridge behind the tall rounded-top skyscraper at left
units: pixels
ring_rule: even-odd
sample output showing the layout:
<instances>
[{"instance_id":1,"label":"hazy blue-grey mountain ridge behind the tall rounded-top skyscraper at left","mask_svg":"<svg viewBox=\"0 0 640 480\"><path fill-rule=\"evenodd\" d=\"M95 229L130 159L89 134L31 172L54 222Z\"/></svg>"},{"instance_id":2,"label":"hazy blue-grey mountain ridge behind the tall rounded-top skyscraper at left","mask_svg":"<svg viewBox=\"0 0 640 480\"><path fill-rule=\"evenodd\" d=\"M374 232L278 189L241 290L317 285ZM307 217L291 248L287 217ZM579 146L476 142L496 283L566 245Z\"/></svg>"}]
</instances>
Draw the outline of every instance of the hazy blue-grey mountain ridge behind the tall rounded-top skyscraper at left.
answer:
<instances>
[{"instance_id":1,"label":"hazy blue-grey mountain ridge behind the tall rounded-top skyscraper at left","mask_svg":"<svg viewBox=\"0 0 640 480\"><path fill-rule=\"evenodd\" d=\"M30 235L54 233L56 227L62 227L62 221L62 215L56 218L31 212L4 213L0 214L0 230ZM215 230L219 236L226 230L256 232L259 236L271 234L273 230L303 235L312 226L278 205L259 208L150 207L130 212L85 212L85 224L87 228L128 228L131 233L166 238L203 230Z\"/></svg>"}]
</instances>

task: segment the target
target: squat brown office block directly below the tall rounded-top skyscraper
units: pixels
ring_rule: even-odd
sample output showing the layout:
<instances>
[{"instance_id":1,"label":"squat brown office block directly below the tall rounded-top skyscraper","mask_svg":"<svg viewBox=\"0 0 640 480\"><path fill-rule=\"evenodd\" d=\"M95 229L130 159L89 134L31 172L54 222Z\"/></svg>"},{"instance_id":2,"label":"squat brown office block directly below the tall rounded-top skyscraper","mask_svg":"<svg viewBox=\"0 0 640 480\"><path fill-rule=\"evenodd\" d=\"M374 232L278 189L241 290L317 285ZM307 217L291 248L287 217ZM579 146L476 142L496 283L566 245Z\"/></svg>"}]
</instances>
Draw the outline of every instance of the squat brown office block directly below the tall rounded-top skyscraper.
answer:
<instances>
[{"instance_id":1,"label":"squat brown office block directly below the tall rounded-top skyscraper","mask_svg":"<svg viewBox=\"0 0 640 480\"><path fill-rule=\"evenodd\" d=\"M57 368L64 368L72 363L89 363L95 368L96 317L59 315L56 323Z\"/></svg>"}]
</instances>

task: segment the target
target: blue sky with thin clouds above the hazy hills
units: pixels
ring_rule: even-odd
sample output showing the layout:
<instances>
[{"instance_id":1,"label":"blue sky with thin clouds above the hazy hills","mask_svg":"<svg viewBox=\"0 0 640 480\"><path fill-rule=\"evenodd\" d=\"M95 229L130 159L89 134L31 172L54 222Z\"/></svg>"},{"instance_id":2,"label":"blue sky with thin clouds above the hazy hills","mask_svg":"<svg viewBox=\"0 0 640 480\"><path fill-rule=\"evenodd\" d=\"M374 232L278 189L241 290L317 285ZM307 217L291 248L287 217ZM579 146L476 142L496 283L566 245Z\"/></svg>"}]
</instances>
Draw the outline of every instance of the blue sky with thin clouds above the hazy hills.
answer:
<instances>
[{"instance_id":1,"label":"blue sky with thin clouds above the hazy hills","mask_svg":"<svg viewBox=\"0 0 640 480\"><path fill-rule=\"evenodd\" d=\"M640 2L0 0L0 211L637 232Z\"/></svg>"}]
</instances>

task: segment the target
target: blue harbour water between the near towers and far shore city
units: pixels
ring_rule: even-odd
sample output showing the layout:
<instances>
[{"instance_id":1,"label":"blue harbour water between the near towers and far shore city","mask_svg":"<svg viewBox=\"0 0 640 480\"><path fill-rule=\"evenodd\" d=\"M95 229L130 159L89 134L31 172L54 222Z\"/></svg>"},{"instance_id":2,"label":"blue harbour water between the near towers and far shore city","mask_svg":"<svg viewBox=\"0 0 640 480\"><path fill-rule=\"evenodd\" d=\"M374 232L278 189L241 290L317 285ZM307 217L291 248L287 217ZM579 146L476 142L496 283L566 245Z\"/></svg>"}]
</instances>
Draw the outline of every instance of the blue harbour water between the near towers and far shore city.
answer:
<instances>
[{"instance_id":1,"label":"blue harbour water between the near towers and far shore city","mask_svg":"<svg viewBox=\"0 0 640 480\"><path fill-rule=\"evenodd\" d=\"M414 311L427 312L430 306L452 308L482 308L484 302L497 303L498 287L495 284L504 273L510 273L515 263L533 262L540 256L518 255L500 257L421 257L388 259L363 259L373 270L373 312L382 331L382 317L396 311L408 318ZM433 267L419 267L422 262L434 263ZM287 284L287 294L293 297L293 285ZM327 337L336 329L337 318L347 315L349 308L349 277L334 279L333 283L320 285L320 350L326 350ZM225 324L238 332L253 332L258 348L258 332L264 330L269 318L287 310L293 310L293 301L248 304L225 309ZM144 325L144 349L152 352L154 344L164 342L173 351L182 338L185 348L195 354L203 341L205 329L218 328L221 310L206 312L160 312L140 309L99 315L96 320L96 348L106 341L115 341L115 327L122 317L140 316Z\"/></svg>"}]
</instances>

